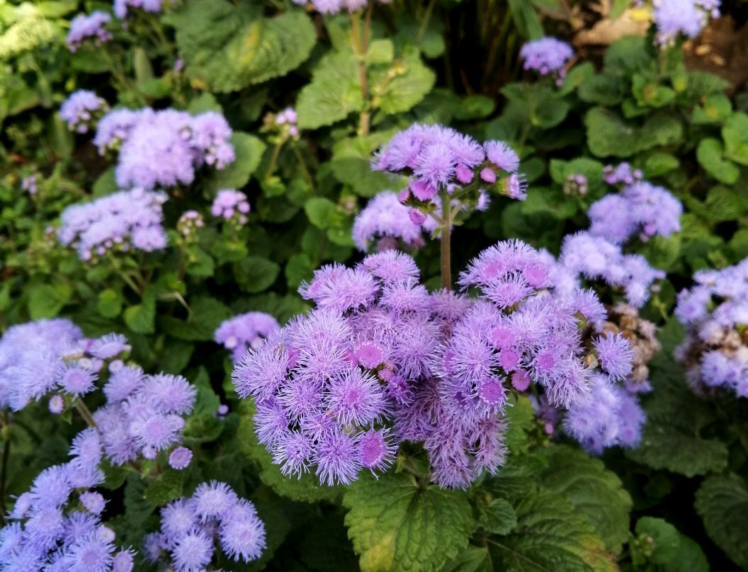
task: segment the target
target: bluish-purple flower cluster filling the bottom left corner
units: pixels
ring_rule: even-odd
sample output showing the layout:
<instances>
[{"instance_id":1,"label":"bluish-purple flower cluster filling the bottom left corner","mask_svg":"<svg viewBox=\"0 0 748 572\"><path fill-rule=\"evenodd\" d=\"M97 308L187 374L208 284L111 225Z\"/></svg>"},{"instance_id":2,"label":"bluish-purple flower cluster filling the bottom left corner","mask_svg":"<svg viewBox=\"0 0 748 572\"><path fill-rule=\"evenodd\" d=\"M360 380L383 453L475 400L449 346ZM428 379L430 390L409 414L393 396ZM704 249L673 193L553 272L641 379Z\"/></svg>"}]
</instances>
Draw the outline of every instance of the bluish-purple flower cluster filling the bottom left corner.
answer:
<instances>
[{"instance_id":1,"label":"bluish-purple flower cluster filling the bottom left corner","mask_svg":"<svg viewBox=\"0 0 748 572\"><path fill-rule=\"evenodd\" d=\"M90 490L104 482L96 431L79 433L70 455L67 463L43 470L16 499L0 529L2 570L132 571L134 553L117 550L114 531L101 520L106 501Z\"/></svg>"}]
</instances>

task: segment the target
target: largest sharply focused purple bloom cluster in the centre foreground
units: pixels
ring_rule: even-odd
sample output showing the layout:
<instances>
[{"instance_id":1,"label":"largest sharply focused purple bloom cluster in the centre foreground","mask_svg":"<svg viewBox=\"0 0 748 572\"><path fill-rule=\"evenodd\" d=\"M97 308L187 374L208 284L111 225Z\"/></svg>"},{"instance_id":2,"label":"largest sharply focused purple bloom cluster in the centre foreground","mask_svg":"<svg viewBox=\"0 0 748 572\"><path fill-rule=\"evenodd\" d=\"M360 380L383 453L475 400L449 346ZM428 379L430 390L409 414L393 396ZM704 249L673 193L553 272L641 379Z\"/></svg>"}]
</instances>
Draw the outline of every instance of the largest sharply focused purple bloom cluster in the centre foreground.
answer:
<instances>
[{"instance_id":1,"label":"largest sharply focused purple bloom cluster in the centre foreground","mask_svg":"<svg viewBox=\"0 0 748 572\"><path fill-rule=\"evenodd\" d=\"M316 309L251 348L234 384L254 398L258 439L286 475L311 468L322 483L349 483L360 470L384 470L396 445L412 441L423 442L435 482L465 487L503 464L509 390L535 384L571 412L589 404L593 381L613 386L631 372L622 336L594 336L595 359L586 355L581 328L606 312L567 282L551 254L521 242L485 250L461 274L477 298L429 294L414 260L396 250L355 268L328 265L300 288ZM636 442L643 413L634 405L631 438L621 431L608 445ZM600 440L598 427L570 427Z\"/></svg>"}]
</instances>

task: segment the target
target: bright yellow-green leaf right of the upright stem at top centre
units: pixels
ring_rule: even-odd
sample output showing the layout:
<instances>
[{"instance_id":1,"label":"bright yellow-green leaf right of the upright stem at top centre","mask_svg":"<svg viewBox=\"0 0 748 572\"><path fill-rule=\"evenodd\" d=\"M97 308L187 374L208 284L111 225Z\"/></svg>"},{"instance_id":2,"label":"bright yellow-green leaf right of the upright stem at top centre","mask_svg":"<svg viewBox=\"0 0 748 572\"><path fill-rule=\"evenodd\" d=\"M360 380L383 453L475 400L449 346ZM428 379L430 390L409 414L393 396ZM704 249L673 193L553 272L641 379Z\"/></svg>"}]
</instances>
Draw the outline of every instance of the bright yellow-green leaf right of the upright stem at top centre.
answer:
<instances>
[{"instance_id":1,"label":"bright yellow-green leaf right of the upright stem at top centre","mask_svg":"<svg viewBox=\"0 0 748 572\"><path fill-rule=\"evenodd\" d=\"M390 78L393 70L396 75ZM372 105L387 114L408 111L426 97L436 82L436 74L423 65L420 52L413 46L405 48L393 69L372 76Z\"/></svg>"}]
</instances>

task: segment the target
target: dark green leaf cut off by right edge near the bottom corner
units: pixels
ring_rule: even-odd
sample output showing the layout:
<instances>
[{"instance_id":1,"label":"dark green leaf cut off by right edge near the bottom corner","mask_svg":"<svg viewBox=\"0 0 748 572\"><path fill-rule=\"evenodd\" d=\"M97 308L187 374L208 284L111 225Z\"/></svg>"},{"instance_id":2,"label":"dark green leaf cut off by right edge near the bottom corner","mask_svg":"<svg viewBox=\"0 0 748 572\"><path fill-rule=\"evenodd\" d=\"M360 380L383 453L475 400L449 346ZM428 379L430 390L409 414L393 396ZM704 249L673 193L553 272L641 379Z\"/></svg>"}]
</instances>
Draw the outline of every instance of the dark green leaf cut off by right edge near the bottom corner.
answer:
<instances>
[{"instance_id":1,"label":"dark green leaf cut off by right edge near the bottom corner","mask_svg":"<svg viewBox=\"0 0 748 572\"><path fill-rule=\"evenodd\" d=\"M696 512L717 546L741 568L748 568L748 488L734 473L711 476L696 491Z\"/></svg>"}]
</instances>

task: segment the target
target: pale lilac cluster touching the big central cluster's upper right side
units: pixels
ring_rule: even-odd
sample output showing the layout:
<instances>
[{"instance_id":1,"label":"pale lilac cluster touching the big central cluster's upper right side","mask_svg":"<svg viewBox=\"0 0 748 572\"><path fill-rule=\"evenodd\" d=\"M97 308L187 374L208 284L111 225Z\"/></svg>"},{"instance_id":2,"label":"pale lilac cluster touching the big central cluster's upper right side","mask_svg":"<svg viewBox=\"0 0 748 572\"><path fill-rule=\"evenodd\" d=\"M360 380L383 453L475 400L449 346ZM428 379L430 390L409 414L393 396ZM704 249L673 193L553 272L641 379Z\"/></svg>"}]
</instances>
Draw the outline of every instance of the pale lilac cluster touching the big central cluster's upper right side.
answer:
<instances>
[{"instance_id":1,"label":"pale lilac cluster touching the big central cluster's upper right side","mask_svg":"<svg viewBox=\"0 0 748 572\"><path fill-rule=\"evenodd\" d=\"M640 254L624 254L620 245L583 231L565 236L560 262L574 276L585 280L603 280L608 286L622 289L626 301L640 308L649 300L655 280L665 277L652 268Z\"/></svg>"}]
</instances>

